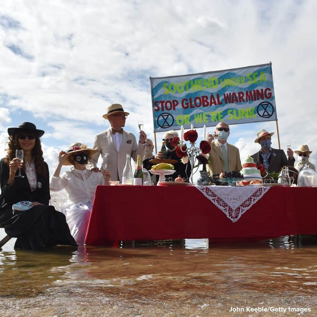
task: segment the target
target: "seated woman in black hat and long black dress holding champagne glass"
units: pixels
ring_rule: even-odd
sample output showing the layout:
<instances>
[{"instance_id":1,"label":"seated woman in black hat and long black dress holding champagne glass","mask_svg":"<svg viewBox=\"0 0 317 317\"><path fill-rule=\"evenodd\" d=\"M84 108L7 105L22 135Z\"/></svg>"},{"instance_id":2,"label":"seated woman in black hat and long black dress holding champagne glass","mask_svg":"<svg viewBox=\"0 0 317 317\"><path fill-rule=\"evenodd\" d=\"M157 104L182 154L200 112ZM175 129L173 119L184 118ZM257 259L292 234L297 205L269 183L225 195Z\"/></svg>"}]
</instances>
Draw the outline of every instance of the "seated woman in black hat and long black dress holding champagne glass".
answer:
<instances>
[{"instance_id":1,"label":"seated woman in black hat and long black dress holding champagne glass","mask_svg":"<svg viewBox=\"0 0 317 317\"><path fill-rule=\"evenodd\" d=\"M49 168L44 162L40 137L44 131L30 122L9 128L7 156L0 160L0 225L15 248L41 250L57 244L77 246L65 216L49 206ZM22 149L23 163L15 157ZM16 177L21 167L21 175ZM12 205L30 201L30 209L12 210Z\"/></svg>"}]
</instances>

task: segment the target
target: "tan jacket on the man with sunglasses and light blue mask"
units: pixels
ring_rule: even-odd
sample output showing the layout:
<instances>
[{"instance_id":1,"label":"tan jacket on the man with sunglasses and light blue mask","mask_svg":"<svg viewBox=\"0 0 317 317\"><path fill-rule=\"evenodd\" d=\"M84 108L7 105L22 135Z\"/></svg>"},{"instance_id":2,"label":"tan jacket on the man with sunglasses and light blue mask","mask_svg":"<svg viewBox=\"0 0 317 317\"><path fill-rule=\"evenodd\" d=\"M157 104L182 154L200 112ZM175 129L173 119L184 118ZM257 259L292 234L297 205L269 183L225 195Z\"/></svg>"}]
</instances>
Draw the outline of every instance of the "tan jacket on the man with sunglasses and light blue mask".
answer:
<instances>
[{"instance_id":1,"label":"tan jacket on the man with sunglasses and light blue mask","mask_svg":"<svg viewBox=\"0 0 317 317\"><path fill-rule=\"evenodd\" d=\"M242 166L240 161L239 149L229 143L227 143L227 146L229 171L241 171ZM208 164L207 170L210 172L210 175L217 173L220 174L223 170L223 158L217 140L211 142L211 150L209 155L211 163Z\"/></svg>"}]
</instances>

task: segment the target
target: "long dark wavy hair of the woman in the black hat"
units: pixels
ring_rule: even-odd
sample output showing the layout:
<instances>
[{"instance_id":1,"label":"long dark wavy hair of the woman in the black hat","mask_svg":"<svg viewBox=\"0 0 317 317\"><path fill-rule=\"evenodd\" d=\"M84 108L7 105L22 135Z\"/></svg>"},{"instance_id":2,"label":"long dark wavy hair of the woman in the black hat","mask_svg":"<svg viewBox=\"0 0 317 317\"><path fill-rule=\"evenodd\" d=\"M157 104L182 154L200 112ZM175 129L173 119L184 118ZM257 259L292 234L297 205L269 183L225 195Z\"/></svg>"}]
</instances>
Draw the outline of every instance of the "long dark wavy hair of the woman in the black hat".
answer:
<instances>
[{"instance_id":1,"label":"long dark wavy hair of the woman in the black hat","mask_svg":"<svg viewBox=\"0 0 317 317\"><path fill-rule=\"evenodd\" d=\"M4 163L8 164L16 157L16 150L21 149L19 146L19 141L18 141L18 135L10 135L9 136L9 142L8 144L8 149L6 149L7 156L4 158ZM41 141L38 136L35 135L35 145L34 148L32 149L32 156L34 158L34 165L36 169L36 174L42 175L42 176L47 176L47 171L44 165L44 159L43 159L43 151L42 151L42 146L41 146ZM25 169L25 166L23 167Z\"/></svg>"}]
</instances>

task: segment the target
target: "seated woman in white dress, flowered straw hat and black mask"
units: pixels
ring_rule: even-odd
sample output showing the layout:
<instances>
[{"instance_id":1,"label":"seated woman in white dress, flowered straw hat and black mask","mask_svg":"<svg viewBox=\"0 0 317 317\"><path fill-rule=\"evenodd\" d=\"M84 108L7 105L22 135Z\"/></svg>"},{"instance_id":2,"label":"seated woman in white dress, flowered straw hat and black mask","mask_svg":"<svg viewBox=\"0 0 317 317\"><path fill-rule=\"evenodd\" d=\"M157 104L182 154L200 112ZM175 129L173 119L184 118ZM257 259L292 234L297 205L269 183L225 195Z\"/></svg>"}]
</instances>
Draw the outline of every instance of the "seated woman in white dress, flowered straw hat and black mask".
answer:
<instances>
[{"instance_id":1,"label":"seated woman in white dress, flowered straw hat and black mask","mask_svg":"<svg viewBox=\"0 0 317 317\"><path fill-rule=\"evenodd\" d=\"M91 156L98 150L88 149L86 144L74 143L58 155L58 165L50 179L50 190L67 192L67 202L61 212L65 214L70 233L77 243L86 236L90 211L97 185L109 185L110 172L90 171L86 168ZM73 165L70 171L60 176L62 165Z\"/></svg>"}]
</instances>

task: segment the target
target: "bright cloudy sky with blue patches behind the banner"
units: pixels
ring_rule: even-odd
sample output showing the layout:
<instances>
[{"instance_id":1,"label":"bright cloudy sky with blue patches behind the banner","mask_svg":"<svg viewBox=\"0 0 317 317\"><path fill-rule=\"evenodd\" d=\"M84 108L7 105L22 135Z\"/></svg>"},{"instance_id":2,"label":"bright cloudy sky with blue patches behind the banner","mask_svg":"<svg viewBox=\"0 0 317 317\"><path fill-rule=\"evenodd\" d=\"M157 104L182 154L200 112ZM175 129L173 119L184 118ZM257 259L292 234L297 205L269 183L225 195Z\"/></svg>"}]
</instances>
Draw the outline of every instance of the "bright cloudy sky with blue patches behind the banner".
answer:
<instances>
[{"instance_id":1,"label":"bright cloudy sky with blue patches behind the banner","mask_svg":"<svg viewBox=\"0 0 317 317\"><path fill-rule=\"evenodd\" d=\"M102 115L113 103L130 113L127 131L138 138L143 120L154 141L150 76L271 61L281 148L286 152L287 139L293 150L307 144L316 165L316 11L314 0L3 1L0 156L7 128L33 122L45 130L42 148L52 173L59 151L74 142L91 147L108 128ZM259 151L254 139L262 128L275 132L278 148L275 121L230 126L228 142L242 160ZM203 129L197 132L199 142ZM160 149L163 133L156 136Z\"/></svg>"}]
</instances>

